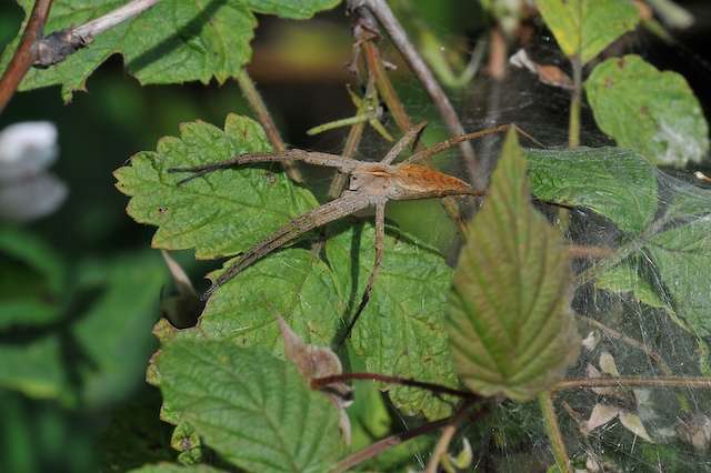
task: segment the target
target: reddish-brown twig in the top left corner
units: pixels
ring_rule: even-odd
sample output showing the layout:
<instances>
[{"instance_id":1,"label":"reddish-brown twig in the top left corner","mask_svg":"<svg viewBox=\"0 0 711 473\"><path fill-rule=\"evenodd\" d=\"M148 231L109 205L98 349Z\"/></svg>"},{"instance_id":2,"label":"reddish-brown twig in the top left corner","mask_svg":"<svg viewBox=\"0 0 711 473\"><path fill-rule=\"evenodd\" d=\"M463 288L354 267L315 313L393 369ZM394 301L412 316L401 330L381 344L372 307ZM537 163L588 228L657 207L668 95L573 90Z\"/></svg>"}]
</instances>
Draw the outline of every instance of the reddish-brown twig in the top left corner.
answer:
<instances>
[{"instance_id":1,"label":"reddish-brown twig in the top left corner","mask_svg":"<svg viewBox=\"0 0 711 473\"><path fill-rule=\"evenodd\" d=\"M39 58L38 43L42 34L44 34L44 24L47 24L47 17L49 17L51 8L52 0L37 0L34 2L20 44L18 44L14 56L12 56L2 78L0 78L0 113L18 90L18 85L27 74L27 71Z\"/></svg>"}]
</instances>

